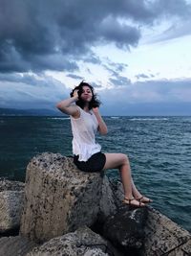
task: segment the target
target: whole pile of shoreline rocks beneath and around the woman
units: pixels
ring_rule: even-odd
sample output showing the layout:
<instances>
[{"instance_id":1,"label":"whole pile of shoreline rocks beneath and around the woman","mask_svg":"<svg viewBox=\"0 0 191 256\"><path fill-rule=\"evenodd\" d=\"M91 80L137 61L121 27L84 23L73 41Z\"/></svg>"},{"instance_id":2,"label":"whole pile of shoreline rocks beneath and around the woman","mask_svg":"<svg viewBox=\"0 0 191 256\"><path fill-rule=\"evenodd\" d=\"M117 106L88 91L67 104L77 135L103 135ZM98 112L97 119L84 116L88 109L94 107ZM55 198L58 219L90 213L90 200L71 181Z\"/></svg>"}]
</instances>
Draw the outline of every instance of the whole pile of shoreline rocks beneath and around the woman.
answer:
<instances>
[{"instance_id":1,"label":"whole pile of shoreline rocks beneath and around the woman","mask_svg":"<svg viewBox=\"0 0 191 256\"><path fill-rule=\"evenodd\" d=\"M191 234L151 206L122 204L120 182L45 152L25 183L0 179L0 256L191 255Z\"/></svg>"}]
</instances>

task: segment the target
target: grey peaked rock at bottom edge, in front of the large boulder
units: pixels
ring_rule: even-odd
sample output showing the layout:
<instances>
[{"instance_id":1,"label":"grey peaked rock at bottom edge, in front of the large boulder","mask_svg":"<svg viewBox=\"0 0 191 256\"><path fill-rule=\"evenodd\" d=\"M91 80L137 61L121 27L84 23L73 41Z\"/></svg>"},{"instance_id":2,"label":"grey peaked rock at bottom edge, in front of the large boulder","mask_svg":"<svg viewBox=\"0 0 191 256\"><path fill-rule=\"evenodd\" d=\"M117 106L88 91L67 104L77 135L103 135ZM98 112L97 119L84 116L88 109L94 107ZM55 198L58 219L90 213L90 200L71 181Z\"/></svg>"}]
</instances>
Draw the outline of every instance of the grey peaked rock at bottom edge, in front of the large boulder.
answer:
<instances>
[{"instance_id":1,"label":"grey peaked rock at bottom edge, in front of the large boulder","mask_svg":"<svg viewBox=\"0 0 191 256\"><path fill-rule=\"evenodd\" d=\"M108 243L88 227L51 239L27 256L109 256ZM114 254L113 254L114 255Z\"/></svg>"}]
</instances>

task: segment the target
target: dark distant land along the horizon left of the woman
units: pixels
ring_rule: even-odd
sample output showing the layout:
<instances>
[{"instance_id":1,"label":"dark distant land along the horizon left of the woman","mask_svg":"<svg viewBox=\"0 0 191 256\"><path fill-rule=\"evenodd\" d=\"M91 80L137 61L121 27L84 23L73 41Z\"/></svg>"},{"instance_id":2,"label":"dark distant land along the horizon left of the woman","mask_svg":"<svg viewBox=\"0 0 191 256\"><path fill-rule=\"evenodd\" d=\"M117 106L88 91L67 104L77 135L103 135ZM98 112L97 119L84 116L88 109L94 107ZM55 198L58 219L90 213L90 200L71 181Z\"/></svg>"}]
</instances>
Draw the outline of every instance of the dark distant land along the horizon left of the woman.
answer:
<instances>
[{"instance_id":1,"label":"dark distant land along the horizon left of the woman","mask_svg":"<svg viewBox=\"0 0 191 256\"><path fill-rule=\"evenodd\" d=\"M0 116L63 116L58 110L0 108Z\"/></svg>"}]
</instances>

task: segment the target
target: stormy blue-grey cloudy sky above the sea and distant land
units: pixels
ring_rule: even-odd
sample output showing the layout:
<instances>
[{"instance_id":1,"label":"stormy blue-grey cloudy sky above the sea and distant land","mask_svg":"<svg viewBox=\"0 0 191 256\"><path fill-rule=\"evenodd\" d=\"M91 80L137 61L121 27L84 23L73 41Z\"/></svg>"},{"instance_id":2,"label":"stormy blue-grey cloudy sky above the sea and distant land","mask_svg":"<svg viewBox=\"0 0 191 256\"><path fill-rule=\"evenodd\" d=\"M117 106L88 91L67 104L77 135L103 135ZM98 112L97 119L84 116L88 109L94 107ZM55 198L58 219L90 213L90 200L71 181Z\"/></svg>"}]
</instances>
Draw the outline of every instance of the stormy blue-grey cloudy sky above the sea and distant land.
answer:
<instances>
[{"instance_id":1,"label":"stormy blue-grey cloudy sky above the sea and distant land","mask_svg":"<svg viewBox=\"0 0 191 256\"><path fill-rule=\"evenodd\" d=\"M103 114L190 115L190 21L190 0L0 0L0 107L85 80Z\"/></svg>"}]
</instances>

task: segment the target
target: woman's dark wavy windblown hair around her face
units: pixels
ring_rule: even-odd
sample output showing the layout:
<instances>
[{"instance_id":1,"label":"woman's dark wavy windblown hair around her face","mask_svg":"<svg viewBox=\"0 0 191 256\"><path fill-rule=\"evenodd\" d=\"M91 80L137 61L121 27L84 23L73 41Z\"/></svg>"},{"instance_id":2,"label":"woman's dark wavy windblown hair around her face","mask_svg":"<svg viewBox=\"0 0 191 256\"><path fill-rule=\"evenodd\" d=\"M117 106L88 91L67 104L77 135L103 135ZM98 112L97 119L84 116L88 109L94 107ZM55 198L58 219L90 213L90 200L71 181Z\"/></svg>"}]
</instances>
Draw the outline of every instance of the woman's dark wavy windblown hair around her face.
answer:
<instances>
[{"instance_id":1,"label":"woman's dark wavy windblown hair around her face","mask_svg":"<svg viewBox=\"0 0 191 256\"><path fill-rule=\"evenodd\" d=\"M74 87L73 91L71 92L71 97L74 96L74 90L78 90L78 100L75 102L76 105L80 106L82 109L84 108L85 106L85 102L80 98L82 92L83 92L83 86L88 86L92 93L93 93L93 98L89 104L89 110L91 110L93 107L97 107L101 104L101 102L99 100L97 100L97 96L94 92L94 88L92 85L90 85L88 82L85 82L85 81L81 81L77 86Z\"/></svg>"}]
</instances>

